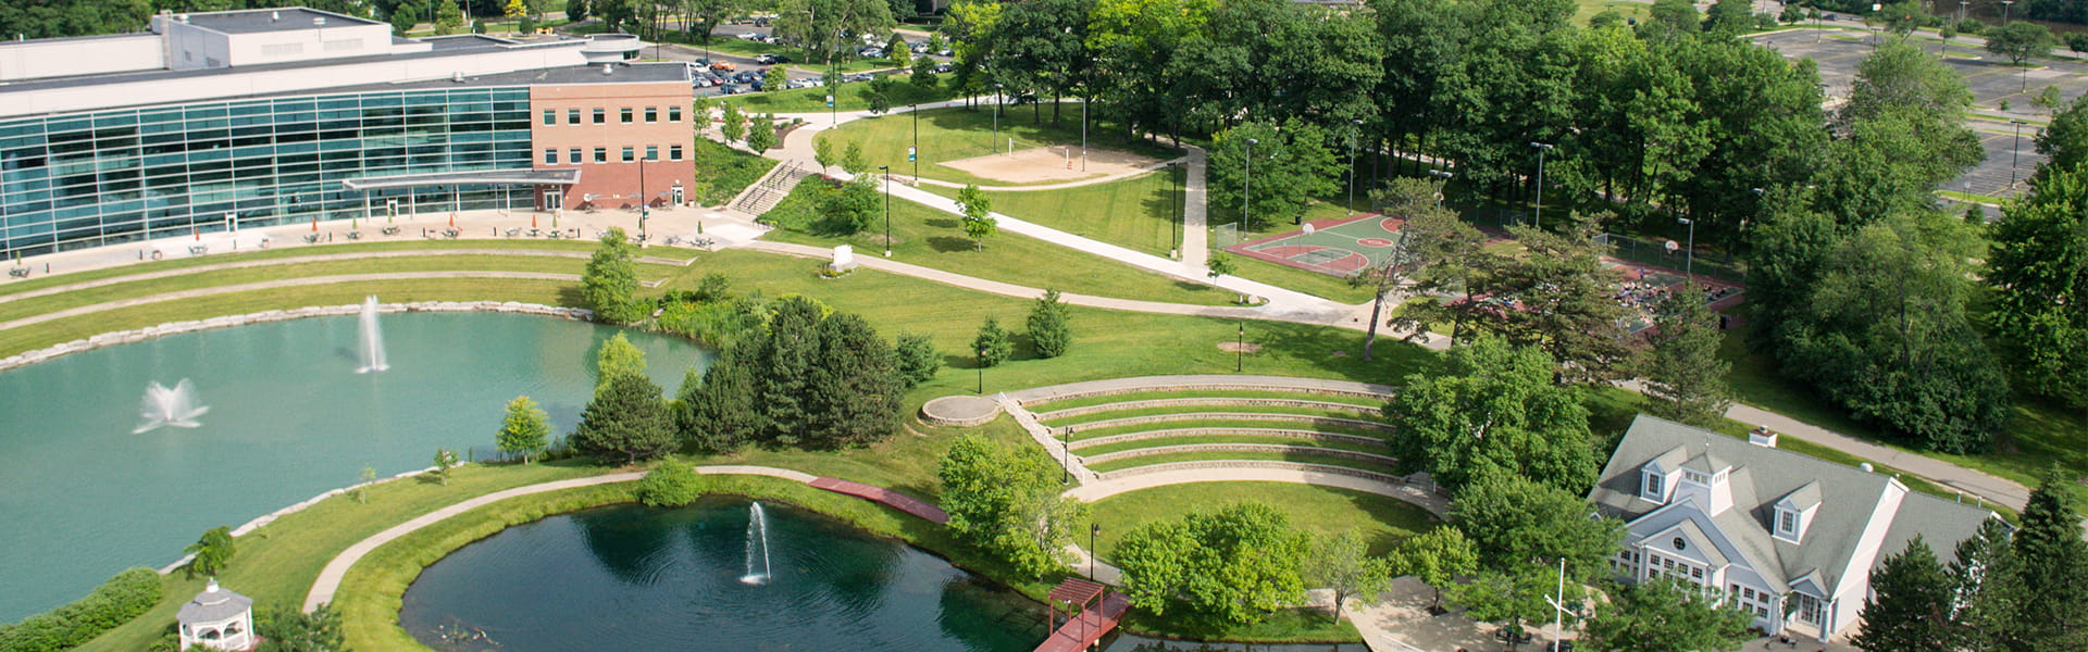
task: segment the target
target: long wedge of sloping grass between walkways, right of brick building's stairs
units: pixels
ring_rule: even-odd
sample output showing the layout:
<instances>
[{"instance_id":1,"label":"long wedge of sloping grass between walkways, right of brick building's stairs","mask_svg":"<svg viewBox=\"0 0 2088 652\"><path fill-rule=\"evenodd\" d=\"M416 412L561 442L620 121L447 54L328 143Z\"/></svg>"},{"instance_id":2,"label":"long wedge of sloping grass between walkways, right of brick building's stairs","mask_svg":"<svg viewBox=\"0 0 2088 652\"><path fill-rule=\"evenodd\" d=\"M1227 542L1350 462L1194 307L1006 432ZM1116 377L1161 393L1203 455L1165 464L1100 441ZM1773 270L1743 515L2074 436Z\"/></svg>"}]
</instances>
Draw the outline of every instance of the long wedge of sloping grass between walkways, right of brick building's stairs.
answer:
<instances>
[{"instance_id":1,"label":"long wedge of sloping grass between walkways, right of brick building's stairs","mask_svg":"<svg viewBox=\"0 0 2088 652\"><path fill-rule=\"evenodd\" d=\"M762 215L764 222L783 226L768 232L766 238L814 247L852 245L856 255L883 255L883 219L877 219L869 230L854 236L814 234L818 219L823 219L818 196L827 192L833 190L821 180L798 184L783 203ZM960 217L904 199L892 201L892 259L1073 295L1194 305L1228 305L1236 299L1230 290L1144 272L1092 253L1009 232L986 238L986 247L979 249L965 236Z\"/></svg>"}]
</instances>

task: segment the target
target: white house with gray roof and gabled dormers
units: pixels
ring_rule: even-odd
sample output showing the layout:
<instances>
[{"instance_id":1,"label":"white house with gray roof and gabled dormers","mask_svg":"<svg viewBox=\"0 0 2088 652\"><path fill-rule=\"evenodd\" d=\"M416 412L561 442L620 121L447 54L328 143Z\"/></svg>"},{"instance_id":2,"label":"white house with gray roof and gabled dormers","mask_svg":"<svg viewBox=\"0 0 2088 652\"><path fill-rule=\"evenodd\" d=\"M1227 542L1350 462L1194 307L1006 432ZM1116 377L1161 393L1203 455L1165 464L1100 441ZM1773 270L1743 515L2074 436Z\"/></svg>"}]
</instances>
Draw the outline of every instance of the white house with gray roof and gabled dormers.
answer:
<instances>
[{"instance_id":1,"label":"white house with gray roof and gabled dormers","mask_svg":"<svg viewBox=\"0 0 2088 652\"><path fill-rule=\"evenodd\" d=\"M1992 510L1898 479L1641 414L1589 499L1627 522L1624 581L1670 575L1723 591L1764 633L1854 633L1871 568L1915 535L1948 562Z\"/></svg>"}]
</instances>

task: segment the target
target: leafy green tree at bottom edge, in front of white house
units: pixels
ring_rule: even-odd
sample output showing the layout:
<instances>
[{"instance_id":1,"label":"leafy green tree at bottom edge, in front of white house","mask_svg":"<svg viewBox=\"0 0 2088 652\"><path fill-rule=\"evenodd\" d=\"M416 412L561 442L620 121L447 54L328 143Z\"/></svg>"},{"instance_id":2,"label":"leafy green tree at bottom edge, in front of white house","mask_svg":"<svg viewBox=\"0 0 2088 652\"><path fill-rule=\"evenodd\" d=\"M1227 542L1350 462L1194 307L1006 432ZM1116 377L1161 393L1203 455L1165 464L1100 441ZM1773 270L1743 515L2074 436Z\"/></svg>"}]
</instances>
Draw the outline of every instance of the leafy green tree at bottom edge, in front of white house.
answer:
<instances>
[{"instance_id":1,"label":"leafy green tree at bottom edge, in front of white house","mask_svg":"<svg viewBox=\"0 0 2088 652\"><path fill-rule=\"evenodd\" d=\"M1877 575L1871 579L1875 583ZM1748 633L1750 612L1718 604L1718 596L1670 577L1627 585L1610 598L1612 604L1595 610L1595 616L1587 621L1591 650L1725 652L1737 650L1752 637ZM1873 612L1865 614L1865 623L1869 623Z\"/></svg>"}]
</instances>

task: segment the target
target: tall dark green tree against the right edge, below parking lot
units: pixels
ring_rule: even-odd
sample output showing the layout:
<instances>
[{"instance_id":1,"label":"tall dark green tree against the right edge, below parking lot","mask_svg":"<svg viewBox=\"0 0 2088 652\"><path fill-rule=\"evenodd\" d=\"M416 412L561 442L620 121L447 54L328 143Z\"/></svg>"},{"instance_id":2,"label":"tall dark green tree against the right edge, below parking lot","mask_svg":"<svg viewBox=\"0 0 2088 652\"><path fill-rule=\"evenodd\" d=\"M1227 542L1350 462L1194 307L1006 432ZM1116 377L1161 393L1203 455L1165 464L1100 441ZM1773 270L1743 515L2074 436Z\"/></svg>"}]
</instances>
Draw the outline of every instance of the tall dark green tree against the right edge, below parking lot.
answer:
<instances>
[{"instance_id":1,"label":"tall dark green tree against the right edge, below parking lot","mask_svg":"<svg viewBox=\"0 0 2088 652\"><path fill-rule=\"evenodd\" d=\"M2053 123L2073 134L2084 104ZM2044 150L2044 140L2038 142ZM2067 146L2065 167L2038 167L2030 196L2009 203L1994 226L1986 282L1994 293L1994 343L2015 362L2017 387L2088 408L2088 150Z\"/></svg>"}]
</instances>

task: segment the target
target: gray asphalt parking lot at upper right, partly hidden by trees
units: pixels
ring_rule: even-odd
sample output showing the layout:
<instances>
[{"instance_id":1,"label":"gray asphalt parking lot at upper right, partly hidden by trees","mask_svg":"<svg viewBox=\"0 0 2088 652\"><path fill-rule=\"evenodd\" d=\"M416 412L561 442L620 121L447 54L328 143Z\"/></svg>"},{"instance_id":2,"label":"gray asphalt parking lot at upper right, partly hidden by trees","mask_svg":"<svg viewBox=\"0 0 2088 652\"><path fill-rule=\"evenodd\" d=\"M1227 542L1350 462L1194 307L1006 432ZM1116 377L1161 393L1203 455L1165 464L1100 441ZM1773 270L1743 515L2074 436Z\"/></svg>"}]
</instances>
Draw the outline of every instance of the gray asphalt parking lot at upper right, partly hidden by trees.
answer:
<instances>
[{"instance_id":1,"label":"gray asphalt parking lot at upper right, partly hidden by trees","mask_svg":"<svg viewBox=\"0 0 2088 652\"><path fill-rule=\"evenodd\" d=\"M1783 56L1798 59L1810 56L1819 63L1821 82L1827 84L1829 104L1848 98L1850 82L1856 77L1856 63L1871 54L1869 33L1865 31L1812 31L1812 29L1792 29L1758 36L1756 42L1769 46ZM1892 36L1885 36L1892 38ZM1921 42L1936 52L1944 48L1936 42ZM2015 125L2009 123L2011 117L2046 121L2050 115L2030 102L2032 96L2044 90L2044 86L2057 86L2065 102L2088 92L2088 65L2080 61L2038 61L2044 67L2019 69L2009 65L2007 59L1998 54L1988 54L1984 48L1969 44L1950 44L1944 48L1942 59L1950 69L1965 77L1965 86L1973 94L1973 111L1982 113L1982 119L1973 119L1971 127L1979 136L1979 144L1986 148L1986 161L1975 165L1965 176L1944 184L1944 190L1988 194L1988 196L2011 196L2021 190L2021 180L2044 161L2036 153L2034 138L2038 125L2023 125L2021 140L2015 138ZM2025 82L2027 79L2027 82ZM2027 84L2027 92L2023 90ZM2000 111L2000 102L2009 102L2009 111ZM2015 188L2009 186L2013 178ZM1969 188L1969 190L1967 190Z\"/></svg>"}]
</instances>

